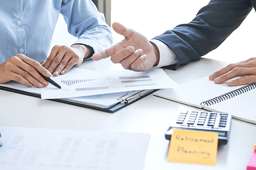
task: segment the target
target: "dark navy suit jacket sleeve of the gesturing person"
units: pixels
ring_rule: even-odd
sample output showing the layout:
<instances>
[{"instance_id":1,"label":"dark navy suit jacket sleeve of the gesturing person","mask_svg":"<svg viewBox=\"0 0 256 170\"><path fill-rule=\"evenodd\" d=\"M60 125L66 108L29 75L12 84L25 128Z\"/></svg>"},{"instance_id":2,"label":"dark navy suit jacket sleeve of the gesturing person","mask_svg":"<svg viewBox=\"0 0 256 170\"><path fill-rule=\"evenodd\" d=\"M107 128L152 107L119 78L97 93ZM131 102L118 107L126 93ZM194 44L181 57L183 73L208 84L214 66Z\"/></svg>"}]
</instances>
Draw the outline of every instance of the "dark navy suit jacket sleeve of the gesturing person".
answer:
<instances>
[{"instance_id":1,"label":"dark navy suit jacket sleeve of the gesturing person","mask_svg":"<svg viewBox=\"0 0 256 170\"><path fill-rule=\"evenodd\" d=\"M179 63L165 68L176 70L179 65L200 59L216 49L253 7L256 7L256 0L212 0L201 8L192 22L154 37L169 46L179 59Z\"/></svg>"}]
</instances>

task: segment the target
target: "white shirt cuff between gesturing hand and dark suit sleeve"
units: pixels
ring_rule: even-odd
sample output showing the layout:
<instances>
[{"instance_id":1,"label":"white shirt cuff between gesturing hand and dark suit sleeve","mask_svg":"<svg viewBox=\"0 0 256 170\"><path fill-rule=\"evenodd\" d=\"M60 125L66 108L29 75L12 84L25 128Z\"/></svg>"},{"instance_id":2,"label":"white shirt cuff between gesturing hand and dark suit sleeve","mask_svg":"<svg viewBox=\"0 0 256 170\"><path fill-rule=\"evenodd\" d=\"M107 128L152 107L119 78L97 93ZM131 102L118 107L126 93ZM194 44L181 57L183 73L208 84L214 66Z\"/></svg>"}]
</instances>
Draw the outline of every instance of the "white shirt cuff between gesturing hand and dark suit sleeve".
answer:
<instances>
[{"instance_id":1,"label":"white shirt cuff between gesturing hand and dark suit sleeve","mask_svg":"<svg viewBox=\"0 0 256 170\"><path fill-rule=\"evenodd\" d=\"M170 65L174 65L175 63L179 62L175 53L162 41L159 41L159 40L150 40L150 41L154 42L154 44L156 46L158 46L159 55L160 55L158 65L153 68L170 66Z\"/></svg>"}]
</instances>

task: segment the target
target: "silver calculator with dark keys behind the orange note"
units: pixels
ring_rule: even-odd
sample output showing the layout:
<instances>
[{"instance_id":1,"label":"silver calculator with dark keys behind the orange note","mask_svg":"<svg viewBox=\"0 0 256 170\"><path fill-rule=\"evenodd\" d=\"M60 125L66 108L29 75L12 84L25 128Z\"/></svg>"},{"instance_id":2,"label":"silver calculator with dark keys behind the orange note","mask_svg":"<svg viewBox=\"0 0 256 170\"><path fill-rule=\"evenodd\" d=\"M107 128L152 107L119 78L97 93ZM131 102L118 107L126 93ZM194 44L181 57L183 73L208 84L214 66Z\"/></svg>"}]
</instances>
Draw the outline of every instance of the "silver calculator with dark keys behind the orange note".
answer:
<instances>
[{"instance_id":1,"label":"silver calculator with dark keys behind the orange note","mask_svg":"<svg viewBox=\"0 0 256 170\"><path fill-rule=\"evenodd\" d=\"M166 131L166 139L171 140L174 129L212 131L218 133L218 143L228 142L232 115L208 111L178 111Z\"/></svg>"}]
</instances>

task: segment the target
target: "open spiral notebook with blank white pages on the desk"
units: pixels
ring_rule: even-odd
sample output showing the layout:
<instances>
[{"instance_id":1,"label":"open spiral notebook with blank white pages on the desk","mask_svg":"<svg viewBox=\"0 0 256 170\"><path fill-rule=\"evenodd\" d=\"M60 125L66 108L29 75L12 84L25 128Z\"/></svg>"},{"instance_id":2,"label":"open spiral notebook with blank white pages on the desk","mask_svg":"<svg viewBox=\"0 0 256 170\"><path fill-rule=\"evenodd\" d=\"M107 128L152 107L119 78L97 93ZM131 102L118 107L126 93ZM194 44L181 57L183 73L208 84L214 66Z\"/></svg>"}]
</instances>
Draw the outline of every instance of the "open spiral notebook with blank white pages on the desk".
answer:
<instances>
[{"instance_id":1,"label":"open spiral notebook with blank white pages on the desk","mask_svg":"<svg viewBox=\"0 0 256 170\"><path fill-rule=\"evenodd\" d=\"M207 76L181 87L157 91L154 96L207 111L227 112L234 118L256 124L256 83L229 87L226 83L215 84Z\"/></svg>"}]
</instances>

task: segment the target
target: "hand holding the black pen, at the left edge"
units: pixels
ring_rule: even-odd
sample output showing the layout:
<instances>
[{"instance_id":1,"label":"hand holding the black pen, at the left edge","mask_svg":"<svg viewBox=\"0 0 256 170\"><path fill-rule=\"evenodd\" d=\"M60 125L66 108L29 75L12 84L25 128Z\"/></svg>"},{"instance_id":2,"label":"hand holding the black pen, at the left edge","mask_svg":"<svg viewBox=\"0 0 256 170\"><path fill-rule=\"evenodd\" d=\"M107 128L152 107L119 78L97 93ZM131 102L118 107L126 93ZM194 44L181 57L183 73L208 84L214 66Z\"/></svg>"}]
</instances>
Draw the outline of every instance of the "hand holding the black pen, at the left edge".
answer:
<instances>
[{"instance_id":1,"label":"hand holding the black pen, at the left edge","mask_svg":"<svg viewBox=\"0 0 256 170\"><path fill-rule=\"evenodd\" d=\"M51 76L39 62L18 54L0 64L0 83L14 80L27 87L48 86L49 83L38 72L47 77Z\"/></svg>"}]
</instances>

